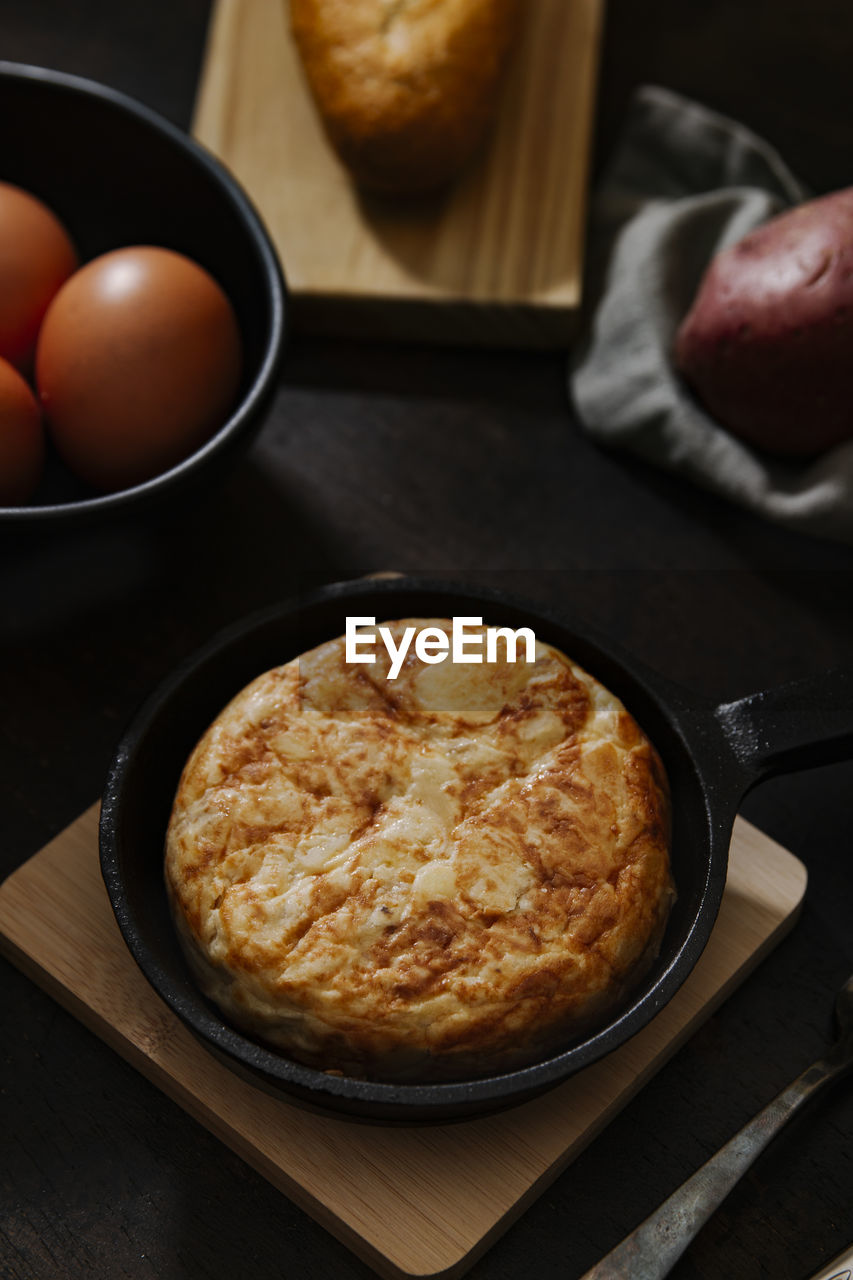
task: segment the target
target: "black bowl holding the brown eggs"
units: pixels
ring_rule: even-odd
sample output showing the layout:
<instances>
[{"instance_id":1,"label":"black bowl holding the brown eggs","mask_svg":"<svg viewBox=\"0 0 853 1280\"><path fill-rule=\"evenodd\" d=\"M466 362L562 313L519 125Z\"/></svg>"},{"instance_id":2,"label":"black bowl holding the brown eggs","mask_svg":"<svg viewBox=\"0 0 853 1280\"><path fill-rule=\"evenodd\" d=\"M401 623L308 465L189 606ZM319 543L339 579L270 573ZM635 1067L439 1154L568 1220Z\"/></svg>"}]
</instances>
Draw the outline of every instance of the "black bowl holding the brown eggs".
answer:
<instances>
[{"instance_id":1,"label":"black bowl holding the brown eggs","mask_svg":"<svg viewBox=\"0 0 853 1280\"><path fill-rule=\"evenodd\" d=\"M83 261L128 244L160 244L195 259L231 298L245 358L236 408L183 462L104 495L49 456L31 503L0 508L0 525L81 522L186 495L247 448L275 388L287 308L269 234L218 160L111 88L0 61L0 118L9 124L0 142L0 180L44 200Z\"/></svg>"}]
</instances>

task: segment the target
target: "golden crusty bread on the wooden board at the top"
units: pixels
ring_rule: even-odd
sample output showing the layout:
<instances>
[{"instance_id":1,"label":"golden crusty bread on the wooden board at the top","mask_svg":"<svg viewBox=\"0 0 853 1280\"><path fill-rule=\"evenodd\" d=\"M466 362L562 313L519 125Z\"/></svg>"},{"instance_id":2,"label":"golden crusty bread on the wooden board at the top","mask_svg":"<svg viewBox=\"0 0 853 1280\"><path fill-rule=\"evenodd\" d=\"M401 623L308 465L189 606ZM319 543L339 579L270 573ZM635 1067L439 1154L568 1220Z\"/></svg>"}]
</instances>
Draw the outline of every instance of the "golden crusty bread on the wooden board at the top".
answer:
<instances>
[{"instance_id":1,"label":"golden crusty bread on the wooden board at the top","mask_svg":"<svg viewBox=\"0 0 853 1280\"><path fill-rule=\"evenodd\" d=\"M520 0L291 0L327 133L356 180L426 191L492 122Z\"/></svg>"}]
</instances>

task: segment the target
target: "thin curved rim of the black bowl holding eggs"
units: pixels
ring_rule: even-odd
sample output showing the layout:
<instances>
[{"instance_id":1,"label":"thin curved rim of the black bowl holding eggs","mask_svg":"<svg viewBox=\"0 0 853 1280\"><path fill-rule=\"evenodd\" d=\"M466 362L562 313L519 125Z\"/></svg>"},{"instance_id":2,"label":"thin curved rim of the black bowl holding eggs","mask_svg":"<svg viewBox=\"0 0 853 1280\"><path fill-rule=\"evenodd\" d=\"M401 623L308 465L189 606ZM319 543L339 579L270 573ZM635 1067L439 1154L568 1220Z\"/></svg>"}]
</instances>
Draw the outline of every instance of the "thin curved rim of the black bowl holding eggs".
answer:
<instances>
[{"instance_id":1,"label":"thin curved rim of the black bowl holding eggs","mask_svg":"<svg viewBox=\"0 0 853 1280\"><path fill-rule=\"evenodd\" d=\"M174 467L161 471L142 484L132 485L129 489L118 489L115 493L96 494L91 498L81 498L72 502L44 503L32 507L0 507L0 524L42 525L51 521L76 521L124 511L129 506L165 497L173 488L181 485L190 475L195 474L197 467L204 467L207 461L211 461L227 449L232 439L240 434L246 421L263 411L264 402L272 396L275 385L287 333L287 285L284 283L284 273L260 214L237 179L232 177L225 166L206 147L196 142L195 138L178 128L177 124L172 124L170 120L160 115L159 111L155 111L154 108L146 106L120 90L111 88L109 84L101 84L99 81L88 79L85 76L73 76L68 72L56 72L47 67L36 67L28 63L14 63L0 59L0 78L45 81L70 93L101 99L110 108L134 116L134 119L142 122L149 128L169 138L178 150L186 152L192 163L206 169L222 187L225 196L237 209L264 265L264 278L270 288L270 332L264 356L240 404L209 440Z\"/></svg>"}]
</instances>

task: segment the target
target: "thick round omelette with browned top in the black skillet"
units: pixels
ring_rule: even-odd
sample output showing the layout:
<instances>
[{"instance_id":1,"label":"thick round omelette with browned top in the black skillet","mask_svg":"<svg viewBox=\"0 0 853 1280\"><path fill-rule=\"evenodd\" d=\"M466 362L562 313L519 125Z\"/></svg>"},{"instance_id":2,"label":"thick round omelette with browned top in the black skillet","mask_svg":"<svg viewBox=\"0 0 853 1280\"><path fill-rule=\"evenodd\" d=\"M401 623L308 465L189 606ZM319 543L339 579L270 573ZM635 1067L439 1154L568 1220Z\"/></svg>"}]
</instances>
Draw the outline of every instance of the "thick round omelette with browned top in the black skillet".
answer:
<instances>
[{"instance_id":1,"label":"thick round omelette with browned top in the black skillet","mask_svg":"<svg viewBox=\"0 0 853 1280\"><path fill-rule=\"evenodd\" d=\"M412 625L451 628L409 618L394 639ZM182 941L227 1018L310 1065L519 1065L605 1018L657 951L662 765L546 644L533 663L410 653L393 681L375 652L324 644L204 735L167 837Z\"/></svg>"}]
</instances>

